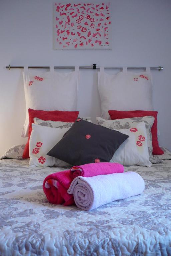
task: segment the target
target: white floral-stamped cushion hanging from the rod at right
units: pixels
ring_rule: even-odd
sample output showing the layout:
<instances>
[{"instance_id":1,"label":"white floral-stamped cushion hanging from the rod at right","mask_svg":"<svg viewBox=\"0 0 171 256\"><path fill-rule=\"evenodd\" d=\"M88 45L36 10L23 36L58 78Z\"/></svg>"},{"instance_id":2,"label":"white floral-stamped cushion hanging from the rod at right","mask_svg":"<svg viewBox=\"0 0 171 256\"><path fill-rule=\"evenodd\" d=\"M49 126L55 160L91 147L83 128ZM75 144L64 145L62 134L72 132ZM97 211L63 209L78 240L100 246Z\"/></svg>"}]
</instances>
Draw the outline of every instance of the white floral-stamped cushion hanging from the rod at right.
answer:
<instances>
[{"instance_id":1,"label":"white floral-stamped cushion hanging from the rod at right","mask_svg":"<svg viewBox=\"0 0 171 256\"><path fill-rule=\"evenodd\" d=\"M153 110L152 82L148 72L98 72L101 117L110 119L108 110Z\"/></svg>"}]
</instances>

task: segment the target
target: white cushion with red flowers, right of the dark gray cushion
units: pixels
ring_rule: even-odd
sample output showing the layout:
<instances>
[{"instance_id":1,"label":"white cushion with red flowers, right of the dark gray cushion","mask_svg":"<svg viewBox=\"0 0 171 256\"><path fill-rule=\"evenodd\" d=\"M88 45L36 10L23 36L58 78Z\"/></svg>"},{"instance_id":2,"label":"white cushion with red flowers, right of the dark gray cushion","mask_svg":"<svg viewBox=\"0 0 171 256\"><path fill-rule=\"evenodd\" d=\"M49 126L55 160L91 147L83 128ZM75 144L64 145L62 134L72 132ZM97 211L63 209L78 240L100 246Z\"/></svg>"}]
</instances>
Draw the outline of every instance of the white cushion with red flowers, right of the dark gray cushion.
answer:
<instances>
[{"instance_id":1,"label":"white cushion with red flowers, right of the dark gray cushion","mask_svg":"<svg viewBox=\"0 0 171 256\"><path fill-rule=\"evenodd\" d=\"M140 165L151 167L145 123L141 122L136 127L119 129L119 131L127 134L129 137L115 151L110 162L120 163L124 166Z\"/></svg>"}]
</instances>

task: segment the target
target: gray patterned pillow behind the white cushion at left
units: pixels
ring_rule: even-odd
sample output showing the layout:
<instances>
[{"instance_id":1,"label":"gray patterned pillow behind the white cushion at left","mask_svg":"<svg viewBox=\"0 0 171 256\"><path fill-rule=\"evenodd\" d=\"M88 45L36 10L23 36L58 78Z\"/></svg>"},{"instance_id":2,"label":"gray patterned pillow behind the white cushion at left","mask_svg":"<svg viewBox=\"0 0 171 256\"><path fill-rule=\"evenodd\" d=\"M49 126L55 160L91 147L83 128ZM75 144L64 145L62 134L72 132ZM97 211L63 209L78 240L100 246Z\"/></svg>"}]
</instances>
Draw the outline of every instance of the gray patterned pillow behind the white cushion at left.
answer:
<instances>
[{"instance_id":1,"label":"gray patterned pillow behind the white cushion at left","mask_svg":"<svg viewBox=\"0 0 171 256\"><path fill-rule=\"evenodd\" d=\"M88 122L92 122L91 120L87 120ZM34 118L34 123L41 125L41 126L47 126L51 128L70 128L73 123L66 123L66 122L61 122L61 121L44 121L42 119L39 119L37 117Z\"/></svg>"}]
</instances>

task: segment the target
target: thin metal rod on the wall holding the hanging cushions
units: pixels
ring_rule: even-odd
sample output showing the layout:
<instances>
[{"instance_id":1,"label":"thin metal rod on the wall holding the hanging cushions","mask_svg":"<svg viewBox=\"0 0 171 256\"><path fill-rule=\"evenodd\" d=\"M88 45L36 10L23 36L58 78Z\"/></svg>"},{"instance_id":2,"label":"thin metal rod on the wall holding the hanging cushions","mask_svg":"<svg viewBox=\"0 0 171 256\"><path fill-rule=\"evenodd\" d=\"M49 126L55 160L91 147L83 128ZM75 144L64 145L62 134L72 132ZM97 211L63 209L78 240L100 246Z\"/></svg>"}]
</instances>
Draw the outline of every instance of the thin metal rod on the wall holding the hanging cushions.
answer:
<instances>
[{"instance_id":1,"label":"thin metal rod on the wall holding the hanging cushions","mask_svg":"<svg viewBox=\"0 0 171 256\"><path fill-rule=\"evenodd\" d=\"M24 66L6 66L6 69L11 68L24 68ZM28 66L28 68L50 68L49 66ZM74 66L54 66L55 69L72 69L75 68ZM80 69L86 68L86 69L99 69L100 67L97 67L96 64L93 64L93 66L80 66ZM122 69L123 67L104 67L105 69ZM146 69L146 67L127 67L127 69ZM150 69L158 69L159 71L163 69L163 67L150 67Z\"/></svg>"}]
</instances>

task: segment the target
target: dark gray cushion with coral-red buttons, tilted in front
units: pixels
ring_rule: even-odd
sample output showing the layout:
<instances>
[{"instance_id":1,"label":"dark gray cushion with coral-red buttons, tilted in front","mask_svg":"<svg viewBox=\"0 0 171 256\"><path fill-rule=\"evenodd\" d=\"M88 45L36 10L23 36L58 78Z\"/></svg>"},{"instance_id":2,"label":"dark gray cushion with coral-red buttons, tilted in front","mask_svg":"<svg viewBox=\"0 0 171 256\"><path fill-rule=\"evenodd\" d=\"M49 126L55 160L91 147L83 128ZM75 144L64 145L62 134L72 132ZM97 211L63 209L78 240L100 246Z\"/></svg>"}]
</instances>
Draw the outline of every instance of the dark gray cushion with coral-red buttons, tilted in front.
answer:
<instances>
[{"instance_id":1,"label":"dark gray cushion with coral-red buttons, tilted in front","mask_svg":"<svg viewBox=\"0 0 171 256\"><path fill-rule=\"evenodd\" d=\"M78 118L47 153L71 165L109 162L128 135Z\"/></svg>"}]
</instances>

